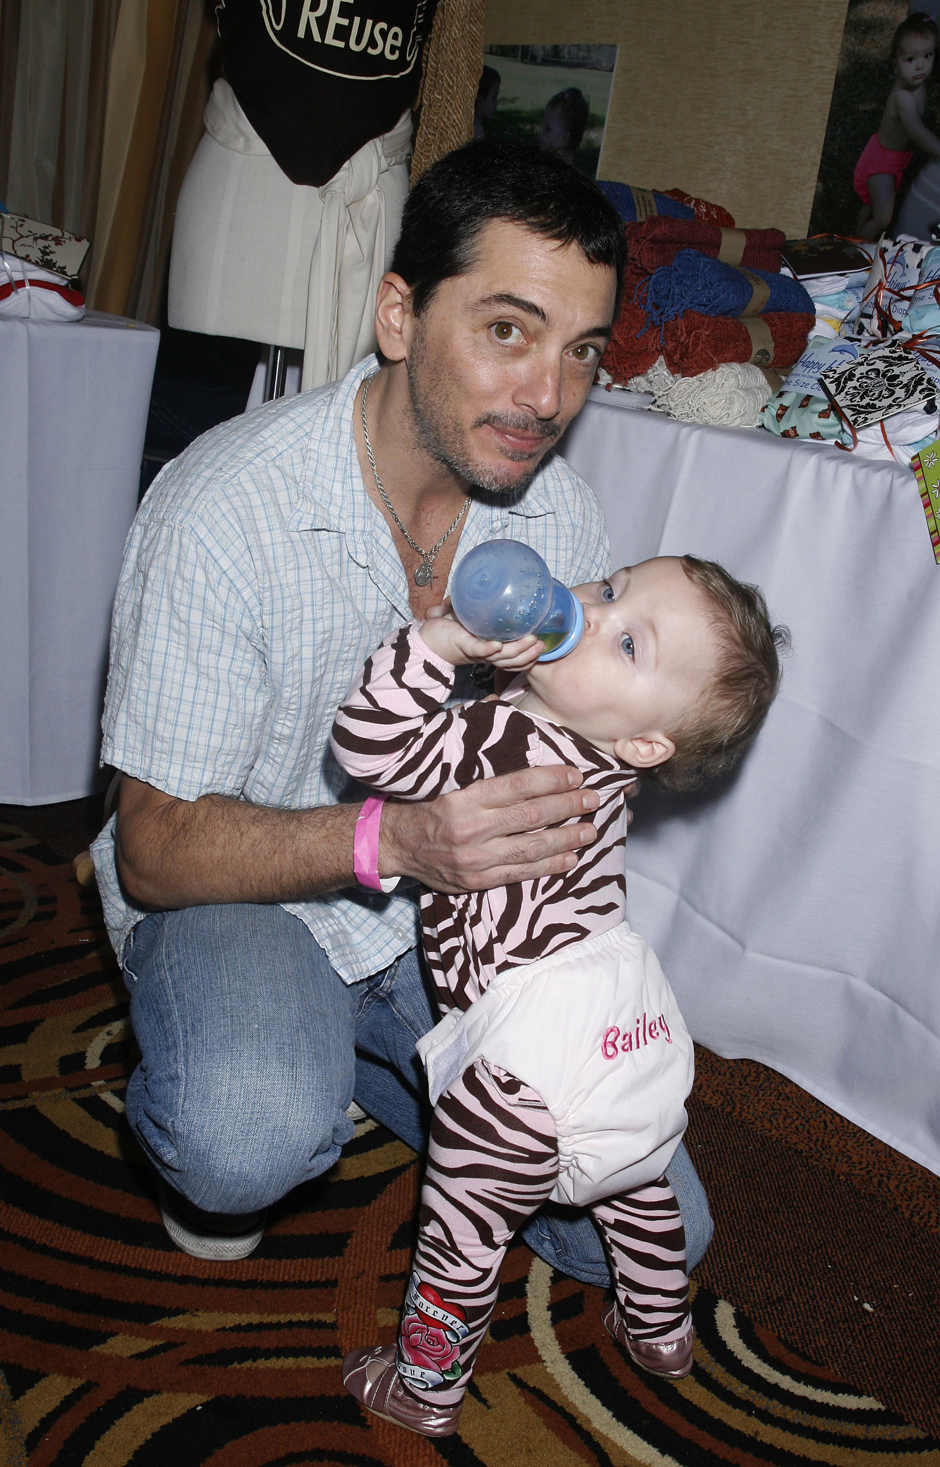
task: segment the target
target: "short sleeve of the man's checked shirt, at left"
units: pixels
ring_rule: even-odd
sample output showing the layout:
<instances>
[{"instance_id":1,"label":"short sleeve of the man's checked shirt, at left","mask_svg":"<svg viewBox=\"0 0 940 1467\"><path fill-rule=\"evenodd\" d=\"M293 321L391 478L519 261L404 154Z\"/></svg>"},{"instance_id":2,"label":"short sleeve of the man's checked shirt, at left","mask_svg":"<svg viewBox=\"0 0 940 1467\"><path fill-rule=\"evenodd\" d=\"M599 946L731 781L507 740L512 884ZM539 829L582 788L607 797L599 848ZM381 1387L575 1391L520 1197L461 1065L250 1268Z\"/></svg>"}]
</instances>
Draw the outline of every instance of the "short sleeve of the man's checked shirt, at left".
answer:
<instances>
[{"instance_id":1,"label":"short sleeve of the man's checked shirt, at left","mask_svg":"<svg viewBox=\"0 0 940 1467\"><path fill-rule=\"evenodd\" d=\"M191 527L138 521L120 574L101 760L169 795L240 795L270 698L258 607Z\"/></svg>"}]
</instances>

